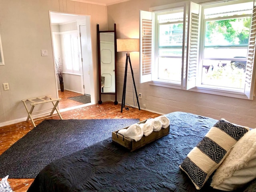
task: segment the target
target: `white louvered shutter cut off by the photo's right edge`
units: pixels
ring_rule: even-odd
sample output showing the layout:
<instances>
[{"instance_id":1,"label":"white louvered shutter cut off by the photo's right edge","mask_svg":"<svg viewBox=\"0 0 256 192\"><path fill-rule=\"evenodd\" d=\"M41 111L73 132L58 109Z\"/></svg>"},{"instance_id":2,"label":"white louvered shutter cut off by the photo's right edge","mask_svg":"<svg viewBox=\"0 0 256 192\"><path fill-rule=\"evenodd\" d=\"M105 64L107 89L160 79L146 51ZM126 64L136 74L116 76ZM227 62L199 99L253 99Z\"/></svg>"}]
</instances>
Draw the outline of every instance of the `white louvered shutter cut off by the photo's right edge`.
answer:
<instances>
[{"instance_id":1,"label":"white louvered shutter cut off by the photo's right edge","mask_svg":"<svg viewBox=\"0 0 256 192\"><path fill-rule=\"evenodd\" d=\"M255 48L256 48L256 2L254 0L254 6L252 11L252 23L250 30L250 38L248 45L248 55L247 55L247 64L246 64L246 77L245 77L245 88L244 93L248 99L253 99L254 94L254 82L255 82Z\"/></svg>"}]
</instances>

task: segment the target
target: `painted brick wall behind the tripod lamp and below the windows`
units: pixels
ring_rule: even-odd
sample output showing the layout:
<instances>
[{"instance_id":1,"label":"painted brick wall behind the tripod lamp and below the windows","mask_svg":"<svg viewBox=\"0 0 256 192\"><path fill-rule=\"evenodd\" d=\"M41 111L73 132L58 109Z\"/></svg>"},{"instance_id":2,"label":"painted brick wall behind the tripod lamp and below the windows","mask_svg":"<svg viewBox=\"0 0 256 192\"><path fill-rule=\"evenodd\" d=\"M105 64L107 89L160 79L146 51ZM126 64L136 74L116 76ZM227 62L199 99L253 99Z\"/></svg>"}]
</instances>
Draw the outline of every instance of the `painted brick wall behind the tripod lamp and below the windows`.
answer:
<instances>
[{"instance_id":1,"label":"painted brick wall behind the tripod lamp and below the windows","mask_svg":"<svg viewBox=\"0 0 256 192\"><path fill-rule=\"evenodd\" d=\"M108 26L116 23L117 38L139 38L140 10L148 11L150 7L179 2L178 0L131 0L107 6ZM122 101L124 81L125 53L117 53L118 101ZM137 92L142 93L140 107L166 114L174 111L191 112L215 119L226 118L231 122L256 127L256 100L245 100L178 90L139 83L139 54L130 53ZM133 106L132 76L128 67L126 85L126 103ZM112 98L112 100L114 100ZM136 99L135 99L136 101Z\"/></svg>"}]
</instances>

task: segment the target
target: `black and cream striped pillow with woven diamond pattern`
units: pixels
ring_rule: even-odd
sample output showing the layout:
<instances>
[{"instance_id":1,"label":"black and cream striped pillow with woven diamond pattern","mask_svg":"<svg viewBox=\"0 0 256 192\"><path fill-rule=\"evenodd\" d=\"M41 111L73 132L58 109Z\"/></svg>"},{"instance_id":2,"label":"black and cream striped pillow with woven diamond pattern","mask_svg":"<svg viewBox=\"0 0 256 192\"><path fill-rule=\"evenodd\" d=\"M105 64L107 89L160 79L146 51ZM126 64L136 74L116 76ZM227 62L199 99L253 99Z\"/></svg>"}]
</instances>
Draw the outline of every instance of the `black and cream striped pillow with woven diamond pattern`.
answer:
<instances>
[{"instance_id":1,"label":"black and cream striped pillow with woven diamond pattern","mask_svg":"<svg viewBox=\"0 0 256 192\"><path fill-rule=\"evenodd\" d=\"M250 128L219 120L184 159L180 168L196 186L202 188L209 176L220 166L232 146Z\"/></svg>"}]
</instances>

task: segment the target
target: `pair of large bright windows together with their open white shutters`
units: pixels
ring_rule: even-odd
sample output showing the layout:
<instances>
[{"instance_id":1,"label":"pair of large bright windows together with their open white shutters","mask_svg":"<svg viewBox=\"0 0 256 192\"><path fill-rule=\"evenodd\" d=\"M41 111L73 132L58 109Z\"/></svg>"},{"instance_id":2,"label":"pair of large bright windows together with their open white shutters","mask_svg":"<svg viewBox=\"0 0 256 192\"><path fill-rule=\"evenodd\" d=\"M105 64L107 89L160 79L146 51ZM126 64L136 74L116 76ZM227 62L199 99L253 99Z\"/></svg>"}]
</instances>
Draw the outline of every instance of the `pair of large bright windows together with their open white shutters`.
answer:
<instances>
[{"instance_id":1,"label":"pair of large bright windows together with their open white shutters","mask_svg":"<svg viewBox=\"0 0 256 192\"><path fill-rule=\"evenodd\" d=\"M245 0L141 11L140 82L252 99L252 8Z\"/></svg>"}]
</instances>

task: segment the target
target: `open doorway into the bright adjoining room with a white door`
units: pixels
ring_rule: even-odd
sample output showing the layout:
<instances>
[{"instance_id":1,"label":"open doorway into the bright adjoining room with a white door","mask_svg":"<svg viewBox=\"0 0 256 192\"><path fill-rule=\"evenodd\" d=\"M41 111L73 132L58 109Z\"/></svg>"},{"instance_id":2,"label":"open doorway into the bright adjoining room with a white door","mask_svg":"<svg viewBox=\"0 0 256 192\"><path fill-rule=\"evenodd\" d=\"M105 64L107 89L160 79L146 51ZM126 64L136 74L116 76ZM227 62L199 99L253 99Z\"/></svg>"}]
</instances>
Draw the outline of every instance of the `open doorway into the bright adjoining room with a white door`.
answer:
<instances>
[{"instance_id":1,"label":"open doorway into the bright adjoining room with a white door","mask_svg":"<svg viewBox=\"0 0 256 192\"><path fill-rule=\"evenodd\" d=\"M60 108L60 111L95 104L94 79L93 75L90 75L93 74L90 16L61 12L49 12L49 15L54 60L62 58L64 64L64 92L66 90L74 92L74 95L91 97L90 103L77 102L72 106ZM66 95L59 94L58 78L56 87L59 97ZM67 98L64 99L66 102Z\"/></svg>"}]
</instances>

